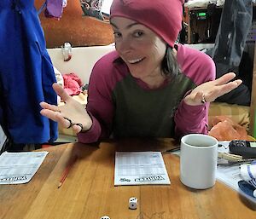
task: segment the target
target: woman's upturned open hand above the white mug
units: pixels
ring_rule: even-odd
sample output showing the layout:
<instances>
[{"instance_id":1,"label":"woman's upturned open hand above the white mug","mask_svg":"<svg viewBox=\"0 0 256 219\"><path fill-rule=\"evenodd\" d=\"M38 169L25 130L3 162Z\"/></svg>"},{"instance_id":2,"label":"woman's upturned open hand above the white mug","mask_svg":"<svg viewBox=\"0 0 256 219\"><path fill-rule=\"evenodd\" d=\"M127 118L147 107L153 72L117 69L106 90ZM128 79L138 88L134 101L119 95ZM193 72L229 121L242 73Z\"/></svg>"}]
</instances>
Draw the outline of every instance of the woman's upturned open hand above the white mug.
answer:
<instances>
[{"instance_id":1,"label":"woman's upturned open hand above the white mug","mask_svg":"<svg viewBox=\"0 0 256 219\"><path fill-rule=\"evenodd\" d=\"M229 72L214 81L201 84L193 89L184 98L184 101L190 106L198 106L205 102L215 101L219 96L229 93L241 84L240 79L230 82L235 77L236 74L234 72Z\"/></svg>"}]
</instances>

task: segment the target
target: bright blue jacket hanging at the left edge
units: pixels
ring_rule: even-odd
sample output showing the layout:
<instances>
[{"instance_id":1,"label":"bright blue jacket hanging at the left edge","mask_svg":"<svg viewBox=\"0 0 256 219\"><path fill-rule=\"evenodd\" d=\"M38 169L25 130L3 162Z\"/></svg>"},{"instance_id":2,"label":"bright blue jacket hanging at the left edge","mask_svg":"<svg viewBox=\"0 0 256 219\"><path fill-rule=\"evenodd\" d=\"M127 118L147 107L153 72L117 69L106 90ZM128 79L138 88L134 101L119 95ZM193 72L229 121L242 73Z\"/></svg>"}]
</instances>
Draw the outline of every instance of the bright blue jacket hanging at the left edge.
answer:
<instances>
[{"instance_id":1,"label":"bright blue jacket hanging at the left edge","mask_svg":"<svg viewBox=\"0 0 256 219\"><path fill-rule=\"evenodd\" d=\"M40 101L56 104L55 73L33 1L0 1L0 25L0 123L15 143L55 141L40 114Z\"/></svg>"}]
</instances>

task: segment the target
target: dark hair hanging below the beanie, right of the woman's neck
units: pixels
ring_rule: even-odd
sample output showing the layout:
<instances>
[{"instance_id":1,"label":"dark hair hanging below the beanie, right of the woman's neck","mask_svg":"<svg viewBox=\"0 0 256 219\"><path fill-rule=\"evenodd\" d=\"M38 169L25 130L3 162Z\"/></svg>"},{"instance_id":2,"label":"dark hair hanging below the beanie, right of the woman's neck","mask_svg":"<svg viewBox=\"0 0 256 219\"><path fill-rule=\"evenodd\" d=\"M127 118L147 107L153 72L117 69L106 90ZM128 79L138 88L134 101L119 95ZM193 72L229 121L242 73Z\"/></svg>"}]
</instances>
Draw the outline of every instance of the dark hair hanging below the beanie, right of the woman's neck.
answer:
<instances>
[{"instance_id":1,"label":"dark hair hanging below the beanie, right of the woman's neck","mask_svg":"<svg viewBox=\"0 0 256 219\"><path fill-rule=\"evenodd\" d=\"M181 73L180 66L177 63L176 56L173 54L172 47L166 45L166 55L161 63L161 70L167 78L176 78Z\"/></svg>"}]
</instances>

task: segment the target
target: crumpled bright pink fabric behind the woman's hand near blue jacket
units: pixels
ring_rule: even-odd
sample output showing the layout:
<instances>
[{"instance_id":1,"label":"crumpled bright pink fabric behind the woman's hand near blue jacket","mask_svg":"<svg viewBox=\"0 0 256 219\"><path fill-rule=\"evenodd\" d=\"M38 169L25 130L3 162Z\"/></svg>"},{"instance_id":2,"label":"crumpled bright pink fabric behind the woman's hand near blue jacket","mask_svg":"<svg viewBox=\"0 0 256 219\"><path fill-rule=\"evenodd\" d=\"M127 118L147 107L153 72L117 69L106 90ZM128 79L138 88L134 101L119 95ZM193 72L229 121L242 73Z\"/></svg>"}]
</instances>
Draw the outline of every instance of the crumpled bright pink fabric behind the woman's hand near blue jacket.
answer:
<instances>
[{"instance_id":1,"label":"crumpled bright pink fabric behind the woman's hand near blue jacket","mask_svg":"<svg viewBox=\"0 0 256 219\"><path fill-rule=\"evenodd\" d=\"M82 92L82 81L75 73L64 74L63 80L68 95L79 95Z\"/></svg>"}]
</instances>

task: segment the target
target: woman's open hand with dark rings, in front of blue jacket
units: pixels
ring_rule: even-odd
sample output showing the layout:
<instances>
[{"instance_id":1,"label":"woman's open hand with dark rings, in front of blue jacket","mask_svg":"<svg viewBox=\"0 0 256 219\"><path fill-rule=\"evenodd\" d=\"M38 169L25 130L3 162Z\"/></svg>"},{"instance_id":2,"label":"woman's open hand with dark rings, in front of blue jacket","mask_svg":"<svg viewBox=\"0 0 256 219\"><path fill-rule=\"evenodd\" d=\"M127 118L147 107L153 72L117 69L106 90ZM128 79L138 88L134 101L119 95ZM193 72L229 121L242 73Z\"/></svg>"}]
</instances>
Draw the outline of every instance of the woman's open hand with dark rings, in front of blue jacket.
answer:
<instances>
[{"instance_id":1,"label":"woman's open hand with dark rings, in front of blue jacket","mask_svg":"<svg viewBox=\"0 0 256 219\"><path fill-rule=\"evenodd\" d=\"M40 106L43 108L40 113L65 128L72 127L75 133L79 133L82 130L90 130L92 120L84 106L73 100L70 95L67 95L67 92L59 84L53 84L53 89L65 104L58 107L46 102L40 102Z\"/></svg>"}]
</instances>

